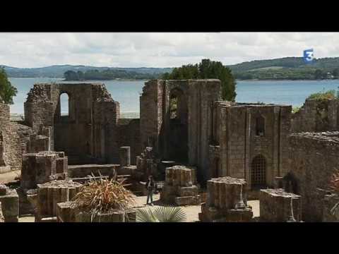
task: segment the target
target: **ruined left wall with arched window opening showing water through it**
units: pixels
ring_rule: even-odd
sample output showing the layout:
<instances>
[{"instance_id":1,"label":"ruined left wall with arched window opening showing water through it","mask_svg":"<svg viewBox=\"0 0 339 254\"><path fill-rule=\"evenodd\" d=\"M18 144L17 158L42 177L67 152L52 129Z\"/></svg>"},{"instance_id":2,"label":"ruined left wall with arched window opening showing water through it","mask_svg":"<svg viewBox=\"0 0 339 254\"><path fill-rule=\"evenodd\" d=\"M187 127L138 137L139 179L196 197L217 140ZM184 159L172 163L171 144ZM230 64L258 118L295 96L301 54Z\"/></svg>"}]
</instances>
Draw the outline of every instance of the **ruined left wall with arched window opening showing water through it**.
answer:
<instances>
[{"instance_id":1,"label":"ruined left wall with arched window opening showing water through it","mask_svg":"<svg viewBox=\"0 0 339 254\"><path fill-rule=\"evenodd\" d=\"M61 116L64 93L69 96L69 116ZM24 105L26 123L38 135L49 127L51 150L66 152L70 164L118 162L119 102L105 85L35 84Z\"/></svg>"}]
</instances>

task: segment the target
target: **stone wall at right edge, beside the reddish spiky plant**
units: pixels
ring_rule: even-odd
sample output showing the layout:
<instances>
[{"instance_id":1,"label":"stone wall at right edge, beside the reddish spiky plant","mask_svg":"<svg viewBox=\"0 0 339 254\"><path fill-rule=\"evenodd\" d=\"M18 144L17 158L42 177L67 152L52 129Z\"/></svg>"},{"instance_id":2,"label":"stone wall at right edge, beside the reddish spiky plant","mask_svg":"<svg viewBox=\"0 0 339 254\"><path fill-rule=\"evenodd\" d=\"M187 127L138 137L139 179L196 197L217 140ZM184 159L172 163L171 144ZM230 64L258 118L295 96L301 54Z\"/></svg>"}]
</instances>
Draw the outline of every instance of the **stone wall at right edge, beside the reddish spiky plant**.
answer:
<instances>
[{"instance_id":1,"label":"stone wall at right edge, beside the reddish spiky plant","mask_svg":"<svg viewBox=\"0 0 339 254\"><path fill-rule=\"evenodd\" d=\"M302 195L302 219L321 222L323 193L335 170L339 169L339 132L293 133L290 141L290 174Z\"/></svg>"}]
</instances>

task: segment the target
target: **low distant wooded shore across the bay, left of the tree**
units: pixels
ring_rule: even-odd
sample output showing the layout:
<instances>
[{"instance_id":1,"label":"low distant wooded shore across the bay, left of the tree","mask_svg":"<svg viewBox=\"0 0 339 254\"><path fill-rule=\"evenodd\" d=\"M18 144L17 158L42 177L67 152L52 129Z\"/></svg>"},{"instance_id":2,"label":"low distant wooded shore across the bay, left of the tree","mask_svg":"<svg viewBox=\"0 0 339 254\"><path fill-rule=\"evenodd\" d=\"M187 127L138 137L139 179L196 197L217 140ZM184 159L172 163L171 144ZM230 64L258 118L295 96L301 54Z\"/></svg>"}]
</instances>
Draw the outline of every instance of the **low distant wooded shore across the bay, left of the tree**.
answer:
<instances>
[{"instance_id":1,"label":"low distant wooded shore across the bay, left of the tree","mask_svg":"<svg viewBox=\"0 0 339 254\"><path fill-rule=\"evenodd\" d=\"M116 67L95 67L95 66L72 66L72 65L56 65L42 68L15 68L4 66L5 71L10 78L64 78L66 71L124 71L126 73L138 73L148 75L160 75L162 73L171 72L172 68L116 68Z\"/></svg>"}]
</instances>

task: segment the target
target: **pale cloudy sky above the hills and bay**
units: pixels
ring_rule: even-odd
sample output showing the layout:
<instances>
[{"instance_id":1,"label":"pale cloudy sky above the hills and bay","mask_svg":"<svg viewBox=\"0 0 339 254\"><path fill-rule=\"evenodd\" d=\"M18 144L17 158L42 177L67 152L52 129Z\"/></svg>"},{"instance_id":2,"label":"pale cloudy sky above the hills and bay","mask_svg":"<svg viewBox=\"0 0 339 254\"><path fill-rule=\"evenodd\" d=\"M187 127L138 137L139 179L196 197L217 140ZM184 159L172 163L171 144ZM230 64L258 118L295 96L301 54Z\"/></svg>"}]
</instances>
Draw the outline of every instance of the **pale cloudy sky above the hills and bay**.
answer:
<instances>
[{"instance_id":1,"label":"pale cloudy sky above the hills and bay","mask_svg":"<svg viewBox=\"0 0 339 254\"><path fill-rule=\"evenodd\" d=\"M339 32L1 32L0 65L163 68L205 58L229 65L302 56L310 48L315 58L339 56Z\"/></svg>"}]
</instances>

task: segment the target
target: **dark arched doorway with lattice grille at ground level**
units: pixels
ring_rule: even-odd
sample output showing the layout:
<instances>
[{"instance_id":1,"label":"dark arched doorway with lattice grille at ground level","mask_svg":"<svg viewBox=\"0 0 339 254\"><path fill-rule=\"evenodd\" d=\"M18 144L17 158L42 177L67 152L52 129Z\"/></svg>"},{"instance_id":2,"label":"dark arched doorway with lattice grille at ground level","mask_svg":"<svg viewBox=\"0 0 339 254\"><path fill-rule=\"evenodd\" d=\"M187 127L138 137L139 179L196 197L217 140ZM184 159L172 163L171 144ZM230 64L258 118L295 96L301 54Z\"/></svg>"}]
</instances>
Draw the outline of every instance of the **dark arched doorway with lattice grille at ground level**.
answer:
<instances>
[{"instance_id":1,"label":"dark arched doorway with lattice grille at ground level","mask_svg":"<svg viewBox=\"0 0 339 254\"><path fill-rule=\"evenodd\" d=\"M257 155L251 165L252 188L266 187L266 159L263 155Z\"/></svg>"}]
</instances>

